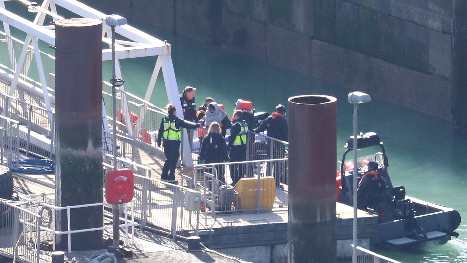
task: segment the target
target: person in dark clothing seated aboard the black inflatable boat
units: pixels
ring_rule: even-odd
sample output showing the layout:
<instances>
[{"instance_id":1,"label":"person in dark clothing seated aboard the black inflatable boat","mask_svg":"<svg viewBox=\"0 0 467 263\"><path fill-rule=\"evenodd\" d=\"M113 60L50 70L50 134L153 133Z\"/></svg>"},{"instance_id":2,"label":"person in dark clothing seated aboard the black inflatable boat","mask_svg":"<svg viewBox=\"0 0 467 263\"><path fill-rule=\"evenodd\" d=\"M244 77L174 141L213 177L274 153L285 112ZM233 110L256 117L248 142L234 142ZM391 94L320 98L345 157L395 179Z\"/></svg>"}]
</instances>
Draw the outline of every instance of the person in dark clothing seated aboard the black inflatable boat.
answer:
<instances>
[{"instance_id":1,"label":"person in dark clothing seated aboard the black inflatable boat","mask_svg":"<svg viewBox=\"0 0 467 263\"><path fill-rule=\"evenodd\" d=\"M375 208L384 196L386 183L378 172L378 163L368 162L368 172L360 180L357 188L357 208L367 210L368 207Z\"/></svg>"}]
</instances>

